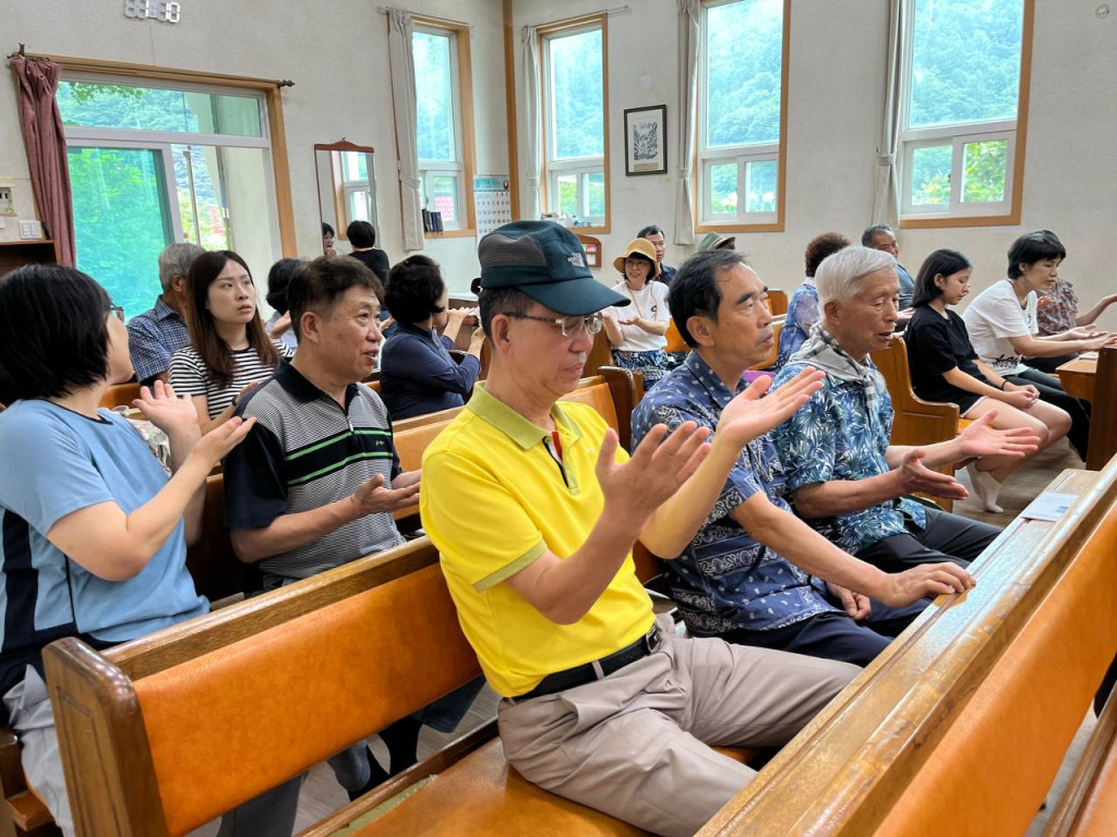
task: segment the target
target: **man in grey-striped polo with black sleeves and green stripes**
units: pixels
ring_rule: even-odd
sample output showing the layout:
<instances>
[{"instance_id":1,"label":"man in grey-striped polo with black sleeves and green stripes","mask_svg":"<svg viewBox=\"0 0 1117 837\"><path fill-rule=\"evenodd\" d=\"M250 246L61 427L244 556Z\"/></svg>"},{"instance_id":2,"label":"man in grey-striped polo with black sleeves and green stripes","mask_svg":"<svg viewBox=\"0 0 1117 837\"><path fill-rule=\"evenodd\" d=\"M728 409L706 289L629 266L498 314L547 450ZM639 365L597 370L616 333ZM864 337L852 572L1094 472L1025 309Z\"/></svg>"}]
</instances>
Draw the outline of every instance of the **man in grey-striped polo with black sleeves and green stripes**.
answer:
<instances>
[{"instance_id":1,"label":"man in grey-striped polo with black sleeves and green stripes","mask_svg":"<svg viewBox=\"0 0 1117 837\"><path fill-rule=\"evenodd\" d=\"M303 267L287 289L298 352L237 408L257 424L225 460L226 525L266 589L403 542L392 512L418 499L419 471L400 471L388 411L360 383L380 352L381 290L355 259ZM404 719L381 731L392 772L413 761L420 727ZM352 798L388 778L363 741L330 763Z\"/></svg>"}]
</instances>

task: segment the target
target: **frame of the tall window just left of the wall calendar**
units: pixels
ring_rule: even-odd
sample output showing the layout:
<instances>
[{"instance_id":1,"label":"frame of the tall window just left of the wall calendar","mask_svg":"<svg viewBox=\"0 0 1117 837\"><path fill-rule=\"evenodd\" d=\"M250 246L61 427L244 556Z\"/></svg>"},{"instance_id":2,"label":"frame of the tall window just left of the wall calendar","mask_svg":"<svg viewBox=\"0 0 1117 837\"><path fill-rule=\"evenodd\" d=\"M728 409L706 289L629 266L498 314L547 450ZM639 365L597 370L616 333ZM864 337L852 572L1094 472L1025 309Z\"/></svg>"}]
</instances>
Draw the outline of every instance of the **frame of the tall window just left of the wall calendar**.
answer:
<instances>
[{"instance_id":1,"label":"frame of the tall window just left of the wall calendar","mask_svg":"<svg viewBox=\"0 0 1117 837\"><path fill-rule=\"evenodd\" d=\"M452 20L413 16L413 31L450 38L450 90L454 97L454 138L457 160L419 160L422 194L433 193L435 177L454 176L458 181L455 210L458 221L442 232L423 231L423 238L465 238L477 234L477 212L474 206L474 172L477 161L474 141L474 77L470 56L469 27ZM418 140L418 126L416 126ZM443 221L445 224L445 221Z\"/></svg>"}]
</instances>

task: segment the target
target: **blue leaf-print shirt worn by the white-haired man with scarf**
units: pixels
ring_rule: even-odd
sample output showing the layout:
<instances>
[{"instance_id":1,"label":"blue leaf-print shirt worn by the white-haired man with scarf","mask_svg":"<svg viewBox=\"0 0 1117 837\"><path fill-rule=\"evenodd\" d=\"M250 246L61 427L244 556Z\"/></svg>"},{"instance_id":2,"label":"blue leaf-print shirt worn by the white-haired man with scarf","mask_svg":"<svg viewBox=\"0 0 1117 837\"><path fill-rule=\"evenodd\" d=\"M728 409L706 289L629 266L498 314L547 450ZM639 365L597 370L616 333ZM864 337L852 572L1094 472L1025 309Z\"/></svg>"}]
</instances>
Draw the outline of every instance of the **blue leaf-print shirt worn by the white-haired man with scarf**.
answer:
<instances>
[{"instance_id":1,"label":"blue leaf-print shirt worn by the white-haired man with scarf","mask_svg":"<svg viewBox=\"0 0 1117 837\"><path fill-rule=\"evenodd\" d=\"M872 366L872 360L866 358L866 364ZM802 360L792 360L776 374L773 388L808 366ZM789 493L815 482L863 480L887 473L885 452L891 430L892 402L887 389L881 387L878 392L876 415L870 416L860 384L827 375L822 388L772 431L786 471ZM808 522L847 552L857 554L877 541L906 532L905 514L920 527L926 525L923 507L907 498Z\"/></svg>"}]
</instances>

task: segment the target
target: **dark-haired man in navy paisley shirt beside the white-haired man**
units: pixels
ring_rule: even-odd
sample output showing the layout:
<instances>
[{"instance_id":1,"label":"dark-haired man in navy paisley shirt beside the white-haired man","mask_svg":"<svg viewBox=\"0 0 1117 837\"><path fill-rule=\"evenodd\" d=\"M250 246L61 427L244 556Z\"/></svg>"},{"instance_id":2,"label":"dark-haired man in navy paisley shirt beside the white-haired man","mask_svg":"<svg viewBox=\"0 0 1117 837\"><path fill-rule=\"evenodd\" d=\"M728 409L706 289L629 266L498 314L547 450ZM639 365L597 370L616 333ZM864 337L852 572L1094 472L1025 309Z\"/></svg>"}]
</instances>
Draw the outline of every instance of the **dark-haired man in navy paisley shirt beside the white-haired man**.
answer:
<instances>
[{"instance_id":1,"label":"dark-haired man in navy paisley shirt beside the white-haired man","mask_svg":"<svg viewBox=\"0 0 1117 837\"><path fill-rule=\"evenodd\" d=\"M658 423L717 427L745 388L745 368L772 347L764 298L739 253L712 250L680 268L671 316L693 350L640 402L633 443ZM926 606L925 596L973 585L951 564L888 575L859 561L795 518L783 493L775 448L766 436L753 440L703 528L668 562L671 598L691 633L866 665Z\"/></svg>"}]
</instances>

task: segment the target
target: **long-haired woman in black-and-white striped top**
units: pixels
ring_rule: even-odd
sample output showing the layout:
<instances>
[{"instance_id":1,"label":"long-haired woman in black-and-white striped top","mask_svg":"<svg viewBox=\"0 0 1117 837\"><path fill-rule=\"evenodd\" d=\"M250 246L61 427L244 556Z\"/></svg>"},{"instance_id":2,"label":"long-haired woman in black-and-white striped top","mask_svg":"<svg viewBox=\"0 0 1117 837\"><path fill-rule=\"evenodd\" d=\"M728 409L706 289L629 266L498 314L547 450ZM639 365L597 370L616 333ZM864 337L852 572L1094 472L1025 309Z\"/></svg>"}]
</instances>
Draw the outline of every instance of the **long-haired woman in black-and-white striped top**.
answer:
<instances>
[{"instance_id":1,"label":"long-haired woman in black-and-white striped top","mask_svg":"<svg viewBox=\"0 0 1117 837\"><path fill-rule=\"evenodd\" d=\"M171 358L171 385L190 395L202 433L232 417L240 395L295 352L268 337L248 264L231 250L202 253L187 277L190 346Z\"/></svg>"}]
</instances>

